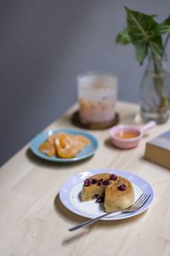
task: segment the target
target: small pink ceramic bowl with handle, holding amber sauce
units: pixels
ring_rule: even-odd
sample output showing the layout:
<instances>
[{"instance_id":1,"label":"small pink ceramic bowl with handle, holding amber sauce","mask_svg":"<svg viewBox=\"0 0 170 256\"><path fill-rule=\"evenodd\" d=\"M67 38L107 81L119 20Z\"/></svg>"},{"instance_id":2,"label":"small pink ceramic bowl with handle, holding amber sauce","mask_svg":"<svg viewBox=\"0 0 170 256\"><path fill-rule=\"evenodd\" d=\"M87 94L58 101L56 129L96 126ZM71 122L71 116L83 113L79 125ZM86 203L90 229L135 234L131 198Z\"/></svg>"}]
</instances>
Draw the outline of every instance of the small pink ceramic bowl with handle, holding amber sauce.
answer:
<instances>
[{"instance_id":1,"label":"small pink ceramic bowl with handle, holding amber sauce","mask_svg":"<svg viewBox=\"0 0 170 256\"><path fill-rule=\"evenodd\" d=\"M156 122L150 121L142 127L135 125L116 125L110 130L111 143L117 148L135 148L143 137L144 131L156 126Z\"/></svg>"}]
</instances>

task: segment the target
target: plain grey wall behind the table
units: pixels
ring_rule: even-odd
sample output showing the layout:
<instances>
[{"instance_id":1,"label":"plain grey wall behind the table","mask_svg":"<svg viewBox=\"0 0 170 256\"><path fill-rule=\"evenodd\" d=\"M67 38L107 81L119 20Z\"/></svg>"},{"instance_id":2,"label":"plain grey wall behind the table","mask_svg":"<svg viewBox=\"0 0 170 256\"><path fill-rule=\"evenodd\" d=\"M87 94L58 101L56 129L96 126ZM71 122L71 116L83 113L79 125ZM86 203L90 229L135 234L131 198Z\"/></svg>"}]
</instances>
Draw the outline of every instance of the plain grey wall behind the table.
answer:
<instances>
[{"instance_id":1,"label":"plain grey wall behind the table","mask_svg":"<svg viewBox=\"0 0 170 256\"><path fill-rule=\"evenodd\" d=\"M0 164L77 100L78 73L115 73L119 99L138 102L144 67L114 44L123 5L164 19L169 0L2 0Z\"/></svg>"}]
</instances>

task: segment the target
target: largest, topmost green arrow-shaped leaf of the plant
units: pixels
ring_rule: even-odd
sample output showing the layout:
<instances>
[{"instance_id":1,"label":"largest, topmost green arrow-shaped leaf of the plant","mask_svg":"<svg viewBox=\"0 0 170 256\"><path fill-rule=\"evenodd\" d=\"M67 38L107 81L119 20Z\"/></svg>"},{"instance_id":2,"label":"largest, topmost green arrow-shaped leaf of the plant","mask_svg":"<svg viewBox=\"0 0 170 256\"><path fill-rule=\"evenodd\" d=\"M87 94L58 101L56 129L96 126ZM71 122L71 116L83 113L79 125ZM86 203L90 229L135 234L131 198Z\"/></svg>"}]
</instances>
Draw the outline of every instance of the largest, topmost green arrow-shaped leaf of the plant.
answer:
<instances>
[{"instance_id":1,"label":"largest, topmost green arrow-shaped leaf of the plant","mask_svg":"<svg viewBox=\"0 0 170 256\"><path fill-rule=\"evenodd\" d=\"M127 29L136 50L137 61L141 64L149 49L156 55L162 54L161 36L156 34L158 24L153 15L144 15L125 7L127 12ZM142 49L144 48L144 49Z\"/></svg>"}]
</instances>

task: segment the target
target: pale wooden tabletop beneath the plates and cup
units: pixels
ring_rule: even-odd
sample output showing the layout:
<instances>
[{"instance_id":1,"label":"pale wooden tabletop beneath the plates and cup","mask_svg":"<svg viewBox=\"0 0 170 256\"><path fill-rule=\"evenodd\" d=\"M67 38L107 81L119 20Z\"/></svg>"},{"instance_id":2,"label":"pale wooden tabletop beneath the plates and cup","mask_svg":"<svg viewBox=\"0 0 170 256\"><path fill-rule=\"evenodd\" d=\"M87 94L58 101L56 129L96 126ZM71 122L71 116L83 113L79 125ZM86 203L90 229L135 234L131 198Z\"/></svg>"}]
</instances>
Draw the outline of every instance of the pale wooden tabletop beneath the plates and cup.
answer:
<instances>
[{"instance_id":1,"label":"pale wooden tabletop beneath the plates and cup","mask_svg":"<svg viewBox=\"0 0 170 256\"><path fill-rule=\"evenodd\" d=\"M77 128L69 109L47 129ZM119 102L121 123L134 123L138 106ZM170 255L170 171L144 160L150 138L167 131L170 122L148 132L131 150L116 149L108 141L109 130L89 131L99 140L94 157L75 164L39 160L29 145L0 171L0 255ZM144 213L124 220L99 221L82 230L68 228L86 220L59 201L59 188L78 172L115 168L132 172L150 183L155 200Z\"/></svg>"}]
</instances>

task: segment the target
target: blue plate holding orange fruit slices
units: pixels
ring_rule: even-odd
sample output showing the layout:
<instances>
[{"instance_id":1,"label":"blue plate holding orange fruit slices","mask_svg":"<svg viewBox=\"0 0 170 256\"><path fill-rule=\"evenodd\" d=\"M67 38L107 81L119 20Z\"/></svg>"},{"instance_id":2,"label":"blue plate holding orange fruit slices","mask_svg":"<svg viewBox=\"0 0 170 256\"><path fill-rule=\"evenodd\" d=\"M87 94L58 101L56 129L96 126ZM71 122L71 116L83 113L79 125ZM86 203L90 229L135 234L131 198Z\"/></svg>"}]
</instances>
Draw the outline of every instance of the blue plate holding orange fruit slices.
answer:
<instances>
[{"instance_id":1,"label":"blue plate holding orange fruit slices","mask_svg":"<svg viewBox=\"0 0 170 256\"><path fill-rule=\"evenodd\" d=\"M77 154L76 157L71 159L63 159L57 156L48 156L47 154L44 154L40 150L38 150L38 147L45 142L47 137L51 136L54 133L59 133L59 132L66 132L69 134L82 135L82 136L88 137L91 143L88 144L86 147L84 147L82 151ZM92 156L97 150L98 146L99 145L98 145L97 139L91 134L89 134L88 132L71 130L71 129L59 129L59 130L42 131L36 137L33 138L33 140L31 141L30 148L34 154L36 154L38 157L42 158L43 160L49 160L54 162L75 162L75 161L83 160Z\"/></svg>"}]
</instances>

